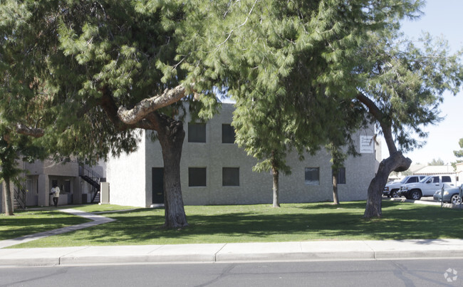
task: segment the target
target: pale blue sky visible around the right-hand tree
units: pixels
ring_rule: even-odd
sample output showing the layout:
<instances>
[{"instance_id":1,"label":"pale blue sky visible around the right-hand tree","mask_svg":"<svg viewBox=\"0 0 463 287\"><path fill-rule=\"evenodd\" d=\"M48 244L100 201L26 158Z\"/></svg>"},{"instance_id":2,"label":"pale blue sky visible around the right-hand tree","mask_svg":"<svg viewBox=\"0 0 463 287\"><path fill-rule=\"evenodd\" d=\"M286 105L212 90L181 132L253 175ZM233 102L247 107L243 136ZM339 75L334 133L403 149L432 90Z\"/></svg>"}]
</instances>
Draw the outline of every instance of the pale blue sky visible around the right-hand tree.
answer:
<instances>
[{"instance_id":1,"label":"pale blue sky visible around the right-hand tree","mask_svg":"<svg viewBox=\"0 0 463 287\"><path fill-rule=\"evenodd\" d=\"M402 21L402 31L410 38L419 38L422 31L432 36L443 36L449 41L452 52L463 48L463 0L427 0L420 19ZM444 93L444 103L440 106L444 120L438 125L425 127L429 132L426 145L408 152L414 164L427 164L433 159L441 159L447 165L457 161L454 150L460 150L458 141L463 137L463 91L457 95ZM383 158L387 157L387 146L383 141Z\"/></svg>"}]
</instances>

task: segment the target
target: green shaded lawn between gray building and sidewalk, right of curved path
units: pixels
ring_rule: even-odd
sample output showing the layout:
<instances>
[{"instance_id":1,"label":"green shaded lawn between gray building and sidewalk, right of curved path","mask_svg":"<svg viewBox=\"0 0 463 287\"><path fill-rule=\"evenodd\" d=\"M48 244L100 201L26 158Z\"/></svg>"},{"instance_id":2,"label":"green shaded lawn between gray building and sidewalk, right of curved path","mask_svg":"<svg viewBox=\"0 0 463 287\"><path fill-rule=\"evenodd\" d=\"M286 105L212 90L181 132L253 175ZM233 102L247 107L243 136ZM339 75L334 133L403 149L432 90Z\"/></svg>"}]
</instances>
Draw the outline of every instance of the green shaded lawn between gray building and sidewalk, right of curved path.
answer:
<instances>
[{"instance_id":1,"label":"green shaded lawn between gray building and sidewalk, right of curved path","mask_svg":"<svg viewBox=\"0 0 463 287\"><path fill-rule=\"evenodd\" d=\"M368 220L364 209L365 202L187 206L189 226L176 230L160 227L163 209L135 209L104 214L117 219L108 224L14 247L463 238L463 210L383 202L383 218Z\"/></svg>"}]
</instances>

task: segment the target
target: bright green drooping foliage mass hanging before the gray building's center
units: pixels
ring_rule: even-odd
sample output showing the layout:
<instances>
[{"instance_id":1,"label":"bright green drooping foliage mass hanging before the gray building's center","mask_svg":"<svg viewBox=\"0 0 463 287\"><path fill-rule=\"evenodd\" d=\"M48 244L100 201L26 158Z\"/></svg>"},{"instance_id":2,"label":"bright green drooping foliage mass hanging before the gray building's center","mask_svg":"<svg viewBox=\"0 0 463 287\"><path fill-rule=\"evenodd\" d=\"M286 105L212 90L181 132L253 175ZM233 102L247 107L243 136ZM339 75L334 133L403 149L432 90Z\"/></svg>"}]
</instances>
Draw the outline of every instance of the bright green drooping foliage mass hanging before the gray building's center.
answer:
<instances>
[{"instance_id":1,"label":"bright green drooping foliage mass hanging before the gray building's center","mask_svg":"<svg viewBox=\"0 0 463 287\"><path fill-rule=\"evenodd\" d=\"M216 43L207 59L236 100L239 144L264 160L265 169L272 162L285 167L291 144L313 151L329 141L329 132L353 128L339 107L358 107L358 89L368 78L358 51L371 33L387 35L421 4L320 0L219 6L222 11L212 14L216 19L208 18L214 29L205 30ZM364 118L361 113L353 122Z\"/></svg>"}]
</instances>

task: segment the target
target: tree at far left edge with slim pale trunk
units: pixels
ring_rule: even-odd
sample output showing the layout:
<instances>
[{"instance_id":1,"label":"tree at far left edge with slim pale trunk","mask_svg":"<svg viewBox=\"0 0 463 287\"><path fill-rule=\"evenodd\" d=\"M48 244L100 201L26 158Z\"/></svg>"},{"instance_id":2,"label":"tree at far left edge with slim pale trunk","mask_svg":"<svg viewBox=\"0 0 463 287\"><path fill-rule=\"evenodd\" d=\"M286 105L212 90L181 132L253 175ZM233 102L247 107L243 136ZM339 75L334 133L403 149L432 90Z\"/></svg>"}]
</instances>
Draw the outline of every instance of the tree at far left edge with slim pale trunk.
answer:
<instances>
[{"instance_id":1,"label":"tree at far left edge with slim pale trunk","mask_svg":"<svg viewBox=\"0 0 463 287\"><path fill-rule=\"evenodd\" d=\"M10 13L14 6L0 5L0 178L7 216L14 215L11 189L21 172L17 160L31 162L46 156L36 140L43 136L41 125L47 118L46 100L40 95L43 85L36 77L41 66L29 66L37 51L26 49L35 44L32 37L15 28L14 13Z\"/></svg>"}]
</instances>

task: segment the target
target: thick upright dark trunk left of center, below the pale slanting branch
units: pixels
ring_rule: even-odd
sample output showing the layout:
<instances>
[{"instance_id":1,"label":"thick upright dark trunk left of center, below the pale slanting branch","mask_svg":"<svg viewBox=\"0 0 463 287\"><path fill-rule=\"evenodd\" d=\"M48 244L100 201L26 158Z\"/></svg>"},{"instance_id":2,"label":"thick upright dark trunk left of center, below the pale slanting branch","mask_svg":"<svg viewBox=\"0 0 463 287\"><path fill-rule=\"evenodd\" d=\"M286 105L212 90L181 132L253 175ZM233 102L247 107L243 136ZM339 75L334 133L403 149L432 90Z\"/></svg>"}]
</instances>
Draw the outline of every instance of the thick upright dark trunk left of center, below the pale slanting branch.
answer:
<instances>
[{"instance_id":1,"label":"thick upright dark trunk left of center, below the pale slanting branch","mask_svg":"<svg viewBox=\"0 0 463 287\"><path fill-rule=\"evenodd\" d=\"M158 115L158 119L160 129L157 130L157 135L162 147L162 160L164 160L164 226L167 228L187 226L180 186L180 157L185 137L183 123L165 115Z\"/></svg>"}]
</instances>

